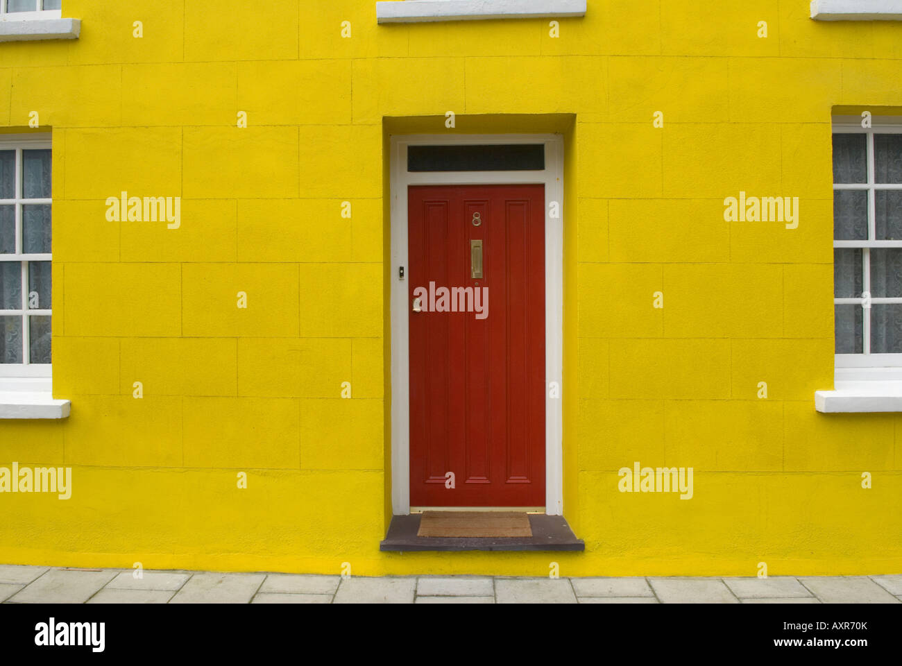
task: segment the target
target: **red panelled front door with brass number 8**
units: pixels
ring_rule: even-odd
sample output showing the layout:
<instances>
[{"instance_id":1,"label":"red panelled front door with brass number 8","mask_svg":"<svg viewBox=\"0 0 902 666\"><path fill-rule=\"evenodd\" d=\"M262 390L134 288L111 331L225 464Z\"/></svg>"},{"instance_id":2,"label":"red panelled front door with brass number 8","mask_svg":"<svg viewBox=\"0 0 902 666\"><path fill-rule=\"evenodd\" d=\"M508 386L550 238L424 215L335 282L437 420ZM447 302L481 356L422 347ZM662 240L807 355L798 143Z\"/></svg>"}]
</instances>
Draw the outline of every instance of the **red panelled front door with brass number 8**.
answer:
<instances>
[{"instance_id":1,"label":"red panelled front door with brass number 8","mask_svg":"<svg viewBox=\"0 0 902 666\"><path fill-rule=\"evenodd\" d=\"M410 187L408 225L410 504L544 506L545 187Z\"/></svg>"}]
</instances>

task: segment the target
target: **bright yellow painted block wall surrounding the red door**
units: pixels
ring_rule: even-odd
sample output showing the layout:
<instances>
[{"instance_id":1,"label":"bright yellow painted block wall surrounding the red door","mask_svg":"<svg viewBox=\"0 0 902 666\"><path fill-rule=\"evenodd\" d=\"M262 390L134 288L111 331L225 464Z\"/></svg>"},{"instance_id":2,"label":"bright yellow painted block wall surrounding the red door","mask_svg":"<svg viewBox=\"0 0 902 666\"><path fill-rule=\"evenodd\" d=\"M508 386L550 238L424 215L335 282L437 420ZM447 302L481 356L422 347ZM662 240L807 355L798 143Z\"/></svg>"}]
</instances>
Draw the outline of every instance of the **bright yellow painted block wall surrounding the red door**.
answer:
<instances>
[{"instance_id":1,"label":"bright yellow painted block wall surrounding the red door","mask_svg":"<svg viewBox=\"0 0 902 666\"><path fill-rule=\"evenodd\" d=\"M0 466L74 477L69 501L0 496L0 562L902 571L902 421L813 396L833 386L832 109L902 106L902 23L808 5L589 0L553 39L543 20L378 26L374 0L64 0L78 41L0 44L0 125L38 111L53 132L54 393L72 402L66 421L0 422ZM575 115L565 511L584 553L378 550L383 118L445 132L446 111L458 131ZM122 190L181 196L181 228L106 221ZM724 222L740 190L799 197L799 227ZM695 497L619 493L636 460L694 467Z\"/></svg>"}]
</instances>

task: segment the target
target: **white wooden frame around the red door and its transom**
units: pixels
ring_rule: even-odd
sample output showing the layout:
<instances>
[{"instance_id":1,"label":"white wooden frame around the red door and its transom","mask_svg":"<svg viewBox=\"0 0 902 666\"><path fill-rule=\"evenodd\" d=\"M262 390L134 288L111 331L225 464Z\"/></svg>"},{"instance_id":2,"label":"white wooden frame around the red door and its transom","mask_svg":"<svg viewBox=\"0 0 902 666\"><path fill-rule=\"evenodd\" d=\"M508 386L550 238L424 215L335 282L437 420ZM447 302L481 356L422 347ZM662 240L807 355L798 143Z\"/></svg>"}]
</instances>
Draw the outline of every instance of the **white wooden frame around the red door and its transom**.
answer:
<instances>
[{"instance_id":1,"label":"white wooden frame around the red door and its transom","mask_svg":"<svg viewBox=\"0 0 902 666\"><path fill-rule=\"evenodd\" d=\"M544 171L407 171L410 145L543 143ZM560 134L410 134L391 137L391 508L410 513L409 185L545 185L545 513L564 512L564 137ZM557 217L550 217L552 204ZM404 266L404 279L399 278ZM557 382L557 397L548 387Z\"/></svg>"}]
</instances>

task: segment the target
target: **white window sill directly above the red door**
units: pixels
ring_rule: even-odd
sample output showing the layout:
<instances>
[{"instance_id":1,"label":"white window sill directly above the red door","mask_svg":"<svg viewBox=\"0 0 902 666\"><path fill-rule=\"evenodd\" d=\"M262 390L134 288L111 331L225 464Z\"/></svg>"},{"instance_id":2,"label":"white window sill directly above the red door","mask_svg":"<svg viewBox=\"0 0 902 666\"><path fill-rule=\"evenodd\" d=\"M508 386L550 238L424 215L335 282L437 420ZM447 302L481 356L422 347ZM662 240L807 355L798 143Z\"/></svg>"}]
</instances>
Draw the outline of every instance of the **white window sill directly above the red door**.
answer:
<instances>
[{"instance_id":1,"label":"white window sill directly above the red door","mask_svg":"<svg viewBox=\"0 0 902 666\"><path fill-rule=\"evenodd\" d=\"M378 23L584 16L586 0L406 0L377 2Z\"/></svg>"}]
</instances>

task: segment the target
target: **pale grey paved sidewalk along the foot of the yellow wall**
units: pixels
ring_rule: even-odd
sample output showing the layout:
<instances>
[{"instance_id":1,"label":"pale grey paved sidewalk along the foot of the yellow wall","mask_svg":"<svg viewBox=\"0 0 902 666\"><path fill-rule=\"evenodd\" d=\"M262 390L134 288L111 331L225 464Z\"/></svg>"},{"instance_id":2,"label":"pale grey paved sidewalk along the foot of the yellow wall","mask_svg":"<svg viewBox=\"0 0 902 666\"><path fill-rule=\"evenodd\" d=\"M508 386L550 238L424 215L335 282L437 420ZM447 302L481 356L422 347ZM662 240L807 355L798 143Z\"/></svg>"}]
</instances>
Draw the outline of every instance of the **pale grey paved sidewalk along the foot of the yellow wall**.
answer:
<instances>
[{"instance_id":1,"label":"pale grey paved sidewalk along the foot of the yellow wall","mask_svg":"<svg viewBox=\"0 0 902 666\"><path fill-rule=\"evenodd\" d=\"M6 604L897 604L902 575L830 578L341 578L0 566Z\"/></svg>"}]
</instances>

